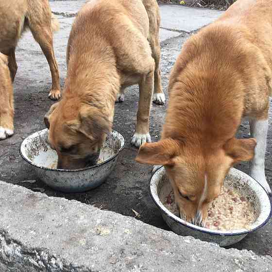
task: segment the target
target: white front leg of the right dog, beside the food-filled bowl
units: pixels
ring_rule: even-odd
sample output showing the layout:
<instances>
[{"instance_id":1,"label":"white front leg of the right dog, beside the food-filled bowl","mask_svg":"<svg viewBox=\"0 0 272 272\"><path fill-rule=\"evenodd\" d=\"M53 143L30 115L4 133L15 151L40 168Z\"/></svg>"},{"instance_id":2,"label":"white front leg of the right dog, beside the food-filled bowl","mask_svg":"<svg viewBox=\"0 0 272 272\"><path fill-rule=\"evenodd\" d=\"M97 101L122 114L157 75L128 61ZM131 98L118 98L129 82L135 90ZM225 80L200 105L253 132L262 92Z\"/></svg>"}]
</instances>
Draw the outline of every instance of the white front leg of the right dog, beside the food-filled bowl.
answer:
<instances>
[{"instance_id":1,"label":"white front leg of the right dog, beside the food-filled bowl","mask_svg":"<svg viewBox=\"0 0 272 272\"><path fill-rule=\"evenodd\" d=\"M267 192L271 194L271 188L267 183L264 171L268 119L251 119L249 120L249 123L251 136L257 141L255 155L253 160L250 162L250 176L257 180L267 190Z\"/></svg>"}]
</instances>

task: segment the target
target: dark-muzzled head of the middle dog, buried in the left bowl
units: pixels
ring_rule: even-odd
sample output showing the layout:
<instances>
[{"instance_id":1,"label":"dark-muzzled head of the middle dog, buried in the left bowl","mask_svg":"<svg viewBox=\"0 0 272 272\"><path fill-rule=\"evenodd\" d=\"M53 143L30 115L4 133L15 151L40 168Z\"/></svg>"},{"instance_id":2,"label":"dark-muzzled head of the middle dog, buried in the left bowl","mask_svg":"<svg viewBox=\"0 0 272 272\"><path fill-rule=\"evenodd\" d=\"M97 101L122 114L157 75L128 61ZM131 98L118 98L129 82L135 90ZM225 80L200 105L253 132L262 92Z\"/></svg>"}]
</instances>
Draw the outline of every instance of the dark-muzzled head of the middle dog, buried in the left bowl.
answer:
<instances>
[{"instance_id":1,"label":"dark-muzzled head of the middle dog, buried in the left bowl","mask_svg":"<svg viewBox=\"0 0 272 272\"><path fill-rule=\"evenodd\" d=\"M74 100L53 104L44 122L49 129L50 146L58 154L60 169L95 165L112 126L99 109Z\"/></svg>"}]
</instances>

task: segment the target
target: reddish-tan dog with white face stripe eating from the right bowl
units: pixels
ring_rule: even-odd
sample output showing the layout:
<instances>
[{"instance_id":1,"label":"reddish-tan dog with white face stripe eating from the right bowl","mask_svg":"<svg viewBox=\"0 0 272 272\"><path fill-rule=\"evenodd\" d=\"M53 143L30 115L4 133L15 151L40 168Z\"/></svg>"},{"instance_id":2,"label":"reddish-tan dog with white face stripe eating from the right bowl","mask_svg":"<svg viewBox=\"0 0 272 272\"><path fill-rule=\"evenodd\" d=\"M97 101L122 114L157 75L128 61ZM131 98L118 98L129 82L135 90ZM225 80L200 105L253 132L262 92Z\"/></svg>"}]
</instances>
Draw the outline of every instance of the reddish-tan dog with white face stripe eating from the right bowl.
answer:
<instances>
[{"instance_id":1,"label":"reddish-tan dog with white face stripe eating from the right bowl","mask_svg":"<svg viewBox=\"0 0 272 272\"><path fill-rule=\"evenodd\" d=\"M249 161L250 175L271 193L264 172L272 91L272 0L238 0L191 36L171 72L162 139L136 161L164 165L180 216L204 225L225 174ZM254 138L235 137L242 118ZM257 143L257 144L256 144Z\"/></svg>"}]
</instances>

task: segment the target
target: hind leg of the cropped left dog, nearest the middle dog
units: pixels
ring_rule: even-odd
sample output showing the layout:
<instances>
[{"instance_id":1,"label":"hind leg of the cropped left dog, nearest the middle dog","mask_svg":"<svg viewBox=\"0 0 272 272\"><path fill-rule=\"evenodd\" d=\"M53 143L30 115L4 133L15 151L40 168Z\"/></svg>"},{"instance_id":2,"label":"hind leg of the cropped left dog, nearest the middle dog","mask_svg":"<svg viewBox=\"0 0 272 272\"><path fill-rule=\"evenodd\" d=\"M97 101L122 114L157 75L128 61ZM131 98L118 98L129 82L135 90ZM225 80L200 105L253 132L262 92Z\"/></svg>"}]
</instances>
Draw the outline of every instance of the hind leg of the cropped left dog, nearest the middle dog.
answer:
<instances>
[{"instance_id":1,"label":"hind leg of the cropped left dog, nearest the middle dog","mask_svg":"<svg viewBox=\"0 0 272 272\"><path fill-rule=\"evenodd\" d=\"M60 82L59 82L59 70L55 60L53 50L53 33L51 29L51 12L48 11L48 17L44 18L28 18L29 28L34 36L34 39L40 45L47 62L50 67L52 77L52 88L49 93L51 100L59 100L61 97ZM40 24L40 23L43 24ZM46 22L46 23L45 23Z\"/></svg>"}]
</instances>

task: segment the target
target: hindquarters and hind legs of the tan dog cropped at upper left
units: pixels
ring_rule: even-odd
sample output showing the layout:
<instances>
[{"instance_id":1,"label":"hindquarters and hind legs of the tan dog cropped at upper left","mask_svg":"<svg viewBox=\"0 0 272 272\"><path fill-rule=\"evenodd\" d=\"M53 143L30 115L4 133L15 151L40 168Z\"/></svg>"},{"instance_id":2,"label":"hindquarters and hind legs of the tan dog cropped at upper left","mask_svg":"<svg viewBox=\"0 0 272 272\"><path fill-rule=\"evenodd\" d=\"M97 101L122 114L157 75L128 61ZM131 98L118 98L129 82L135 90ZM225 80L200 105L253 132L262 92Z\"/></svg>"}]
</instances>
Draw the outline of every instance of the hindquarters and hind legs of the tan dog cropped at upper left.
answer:
<instances>
[{"instance_id":1,"label":"hindquarters and hind legs of the tan dog cropped at upper left","mask_svg":"<svg viewBox=\"0 0 272 272\"><path fill-rule=\"evenodd\" d=\"M15 49L22 33L29 28L39 43L51 70L52 88L49 97L61 97L59 71L54 57L52 32L58 30L48 0L0 1L0 52L8 56L8 66L14 81L17 72Z\"/></svg>"}]
</instances>

